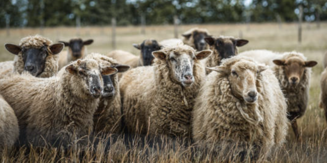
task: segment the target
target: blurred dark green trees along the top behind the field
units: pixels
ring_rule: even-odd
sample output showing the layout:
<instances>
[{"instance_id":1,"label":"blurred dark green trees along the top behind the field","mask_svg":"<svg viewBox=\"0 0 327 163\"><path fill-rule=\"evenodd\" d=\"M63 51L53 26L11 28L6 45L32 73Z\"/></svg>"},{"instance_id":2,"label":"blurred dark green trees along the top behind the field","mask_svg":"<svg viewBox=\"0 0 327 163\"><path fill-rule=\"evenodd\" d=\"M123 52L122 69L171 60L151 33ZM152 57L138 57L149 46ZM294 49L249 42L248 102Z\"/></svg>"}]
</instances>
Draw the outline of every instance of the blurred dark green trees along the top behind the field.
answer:
<instances>
[{"instance_id":1,"label":"blurred dark green trees along the top behind the field","mask_svg":"<svg viewBox=\"0 0 327 163\"><path fill-rule=\"evenodd\" d=\"M327 20L326 0L1 0L0 27L294 22Z\"/></svg>"}]
</instances>

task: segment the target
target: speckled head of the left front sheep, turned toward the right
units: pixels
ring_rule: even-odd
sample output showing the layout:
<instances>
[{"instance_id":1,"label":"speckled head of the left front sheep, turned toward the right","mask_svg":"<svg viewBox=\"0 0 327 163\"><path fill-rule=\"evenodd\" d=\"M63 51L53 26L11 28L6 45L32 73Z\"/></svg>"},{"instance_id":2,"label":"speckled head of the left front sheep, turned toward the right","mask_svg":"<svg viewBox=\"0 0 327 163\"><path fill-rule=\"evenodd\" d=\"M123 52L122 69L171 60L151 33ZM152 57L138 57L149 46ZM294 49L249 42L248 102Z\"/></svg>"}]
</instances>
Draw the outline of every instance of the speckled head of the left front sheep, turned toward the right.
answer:
<instances>
[{"instance_id":1,"label":"speckled head of the left front sheep, turned toward the right","mask_svg":"<svg viewBox=\"0 0 327 163\"><path fill-rule=\"evenodd\" d=\"M86 94L99 98L103 93L101 75L112 75L118 70L111 66L101 67L95 60L86 59L77 60L67 66L66 71L73 75L74 83L79 84L77 88L82 88Z\"/></svg>"}]
</instances>

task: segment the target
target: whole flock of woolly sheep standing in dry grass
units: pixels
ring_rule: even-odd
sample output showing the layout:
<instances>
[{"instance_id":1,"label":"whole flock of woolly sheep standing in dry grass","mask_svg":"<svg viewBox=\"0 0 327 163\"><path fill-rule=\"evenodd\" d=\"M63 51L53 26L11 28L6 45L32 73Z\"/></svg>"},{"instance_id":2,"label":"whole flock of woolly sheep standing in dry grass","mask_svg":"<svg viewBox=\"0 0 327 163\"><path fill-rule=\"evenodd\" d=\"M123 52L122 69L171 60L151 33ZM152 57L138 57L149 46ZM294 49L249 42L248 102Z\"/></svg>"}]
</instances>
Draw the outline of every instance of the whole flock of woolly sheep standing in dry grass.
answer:
<instances>
[{"instance_id":1,"label":"whole flock of woolly sheep standing in dry grass","mask_svg":"<svg viewBox=\"0 0 327 163\"><path fill-rule=\"evenodd\" d=\"M296 119L307 107L316 61L299 52L238 53L248 40L205 29L182 36L133 44L140 56L87 54L92 39L53 43L36 35L5 44L15 58L0 63L0 148L86 145L91 133L140 133L186 138L217 152L252 146L258 154L280 147L289 124L301 139ZM320 102L327 117L326 80L327 70Z\"/></svg>"}]
</instances>

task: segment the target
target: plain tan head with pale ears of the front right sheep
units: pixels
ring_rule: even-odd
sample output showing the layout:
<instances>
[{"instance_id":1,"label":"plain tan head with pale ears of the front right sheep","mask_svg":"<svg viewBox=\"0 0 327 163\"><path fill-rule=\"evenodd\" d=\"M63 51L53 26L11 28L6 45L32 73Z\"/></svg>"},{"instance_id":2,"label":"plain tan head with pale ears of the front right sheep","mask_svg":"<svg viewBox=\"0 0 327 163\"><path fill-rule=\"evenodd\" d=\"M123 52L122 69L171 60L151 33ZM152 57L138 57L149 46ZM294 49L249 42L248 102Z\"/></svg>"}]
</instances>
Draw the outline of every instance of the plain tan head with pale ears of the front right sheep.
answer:
<instances>
[{"instance_id":1,"label":"plain tan head with pale ears of the front right sheep","mask_svg":"<svg viewBox=\"0 0 327 163\"><path fill-rule=\"evenodd\" d=\"M232 59L232 58L231 58ZM231 84L232 93L246 103L255 103L258 99L257 78L267 69L257 65L250 59L240 59L234 62L225 62L224 65L209 68L227 77Z\"/></svg>"}]
</instances>

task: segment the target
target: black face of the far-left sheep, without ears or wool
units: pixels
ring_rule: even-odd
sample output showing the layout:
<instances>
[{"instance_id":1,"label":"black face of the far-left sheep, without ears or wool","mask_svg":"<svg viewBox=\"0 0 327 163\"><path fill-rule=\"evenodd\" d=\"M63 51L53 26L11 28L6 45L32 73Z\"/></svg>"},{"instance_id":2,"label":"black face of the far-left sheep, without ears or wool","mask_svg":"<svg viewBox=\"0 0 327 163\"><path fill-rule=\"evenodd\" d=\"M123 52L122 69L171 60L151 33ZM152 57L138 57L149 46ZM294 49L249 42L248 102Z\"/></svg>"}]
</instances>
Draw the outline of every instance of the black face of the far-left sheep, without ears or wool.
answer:
<instances>
[{"instance_id":1,"label":"black face of the far-left sheep, without ears or wool","mask_svg":"<svg viewBox=\"0 0 327 163\"><path fill-rule=\"evenodd\" d=\"M24 70L33 76L37 76L43 72L45 58L48 55L46 46L41 48L22 49Z\"/></svg>"}]
</instances>

